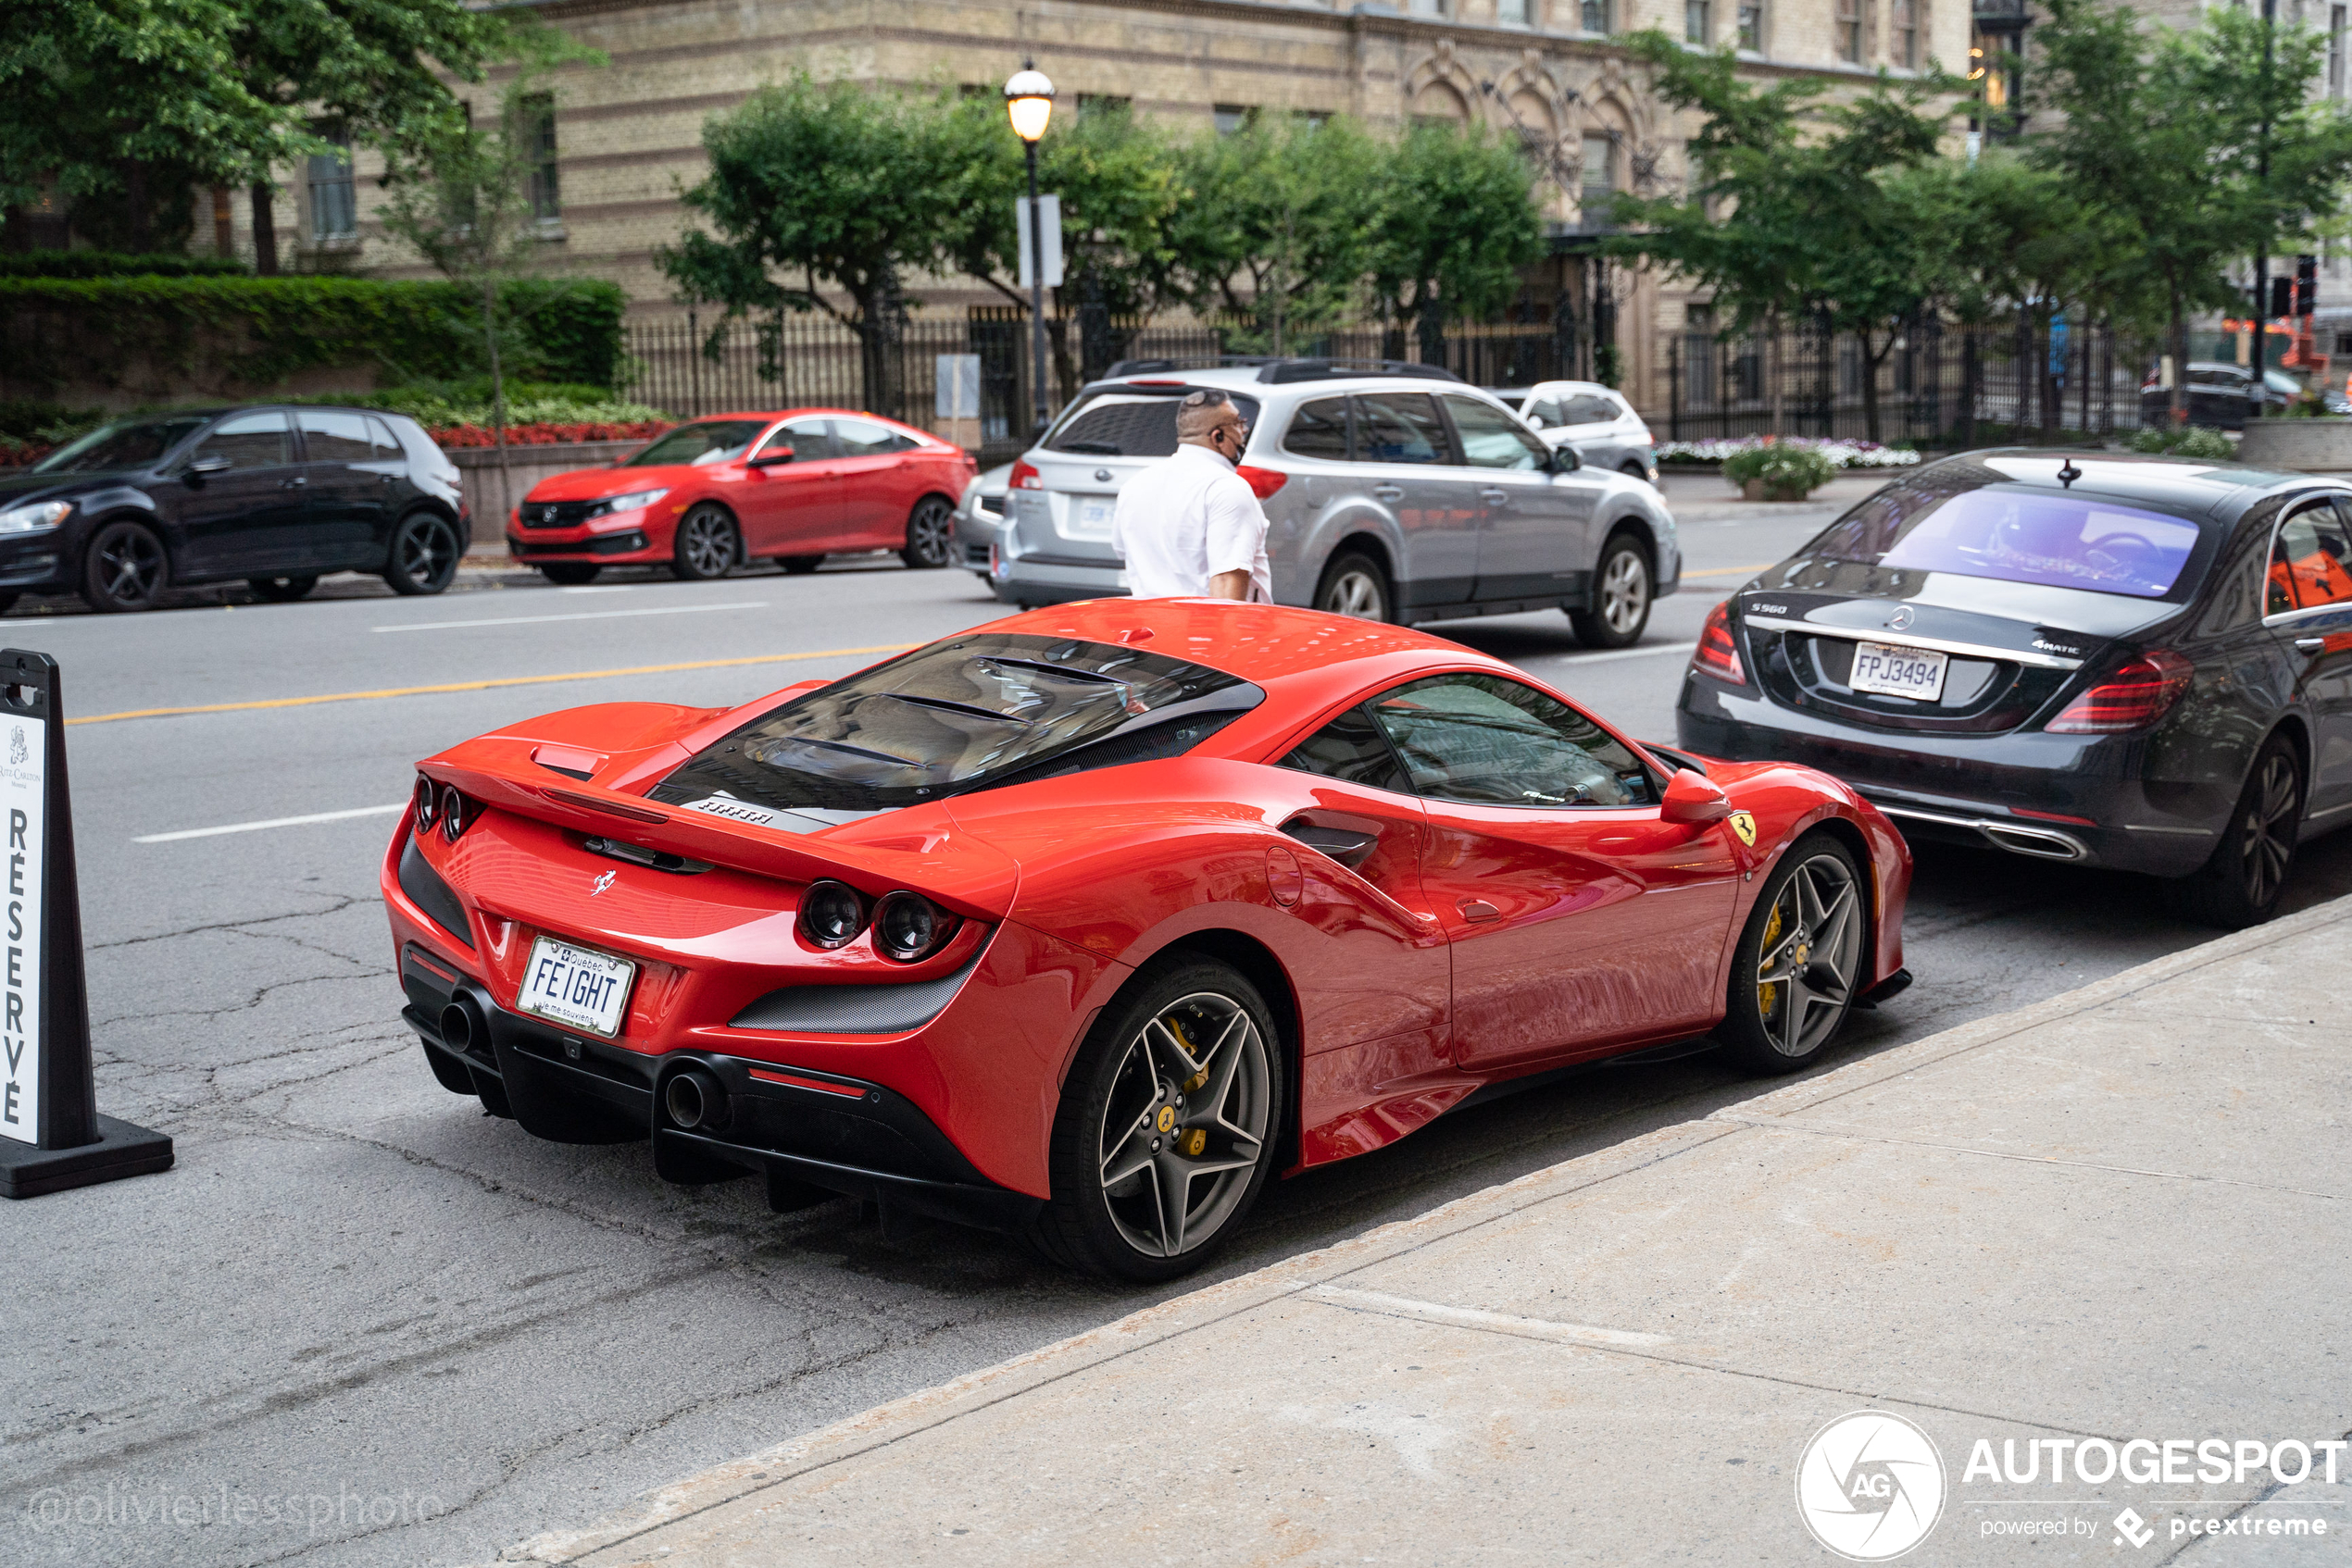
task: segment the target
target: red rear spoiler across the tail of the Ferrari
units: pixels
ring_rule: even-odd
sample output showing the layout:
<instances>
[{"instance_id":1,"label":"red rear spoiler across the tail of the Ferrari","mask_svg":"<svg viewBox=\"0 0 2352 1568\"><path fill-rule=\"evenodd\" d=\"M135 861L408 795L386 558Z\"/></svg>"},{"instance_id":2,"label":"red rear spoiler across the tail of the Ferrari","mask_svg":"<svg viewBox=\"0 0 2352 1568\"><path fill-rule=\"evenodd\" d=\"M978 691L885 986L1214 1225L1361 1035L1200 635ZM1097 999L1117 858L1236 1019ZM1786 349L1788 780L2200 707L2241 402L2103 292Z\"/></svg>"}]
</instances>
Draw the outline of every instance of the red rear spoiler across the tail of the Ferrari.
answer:
<instances>
[{"instance_id":1,"label":"red rear spoiler across the tail of the Ferrari","mask_svg":"<svg viewBox=\"0 0 2352 1568\"><path fill-rule=\"evenodd\" d=\"M642 795L623 795L532 762L539 741L485 736L419 764L428 778L539 823L590 837L614 837L687 860L708 860L781 882L847 882L870 898L913 889L971 919L997 922L1011 910L1021 867L1004 851L955 825L938 806L894 816L868 842L809 837L708 816ZM835 832L854 832L849 830Z\"/></svg>"}]
</instances>

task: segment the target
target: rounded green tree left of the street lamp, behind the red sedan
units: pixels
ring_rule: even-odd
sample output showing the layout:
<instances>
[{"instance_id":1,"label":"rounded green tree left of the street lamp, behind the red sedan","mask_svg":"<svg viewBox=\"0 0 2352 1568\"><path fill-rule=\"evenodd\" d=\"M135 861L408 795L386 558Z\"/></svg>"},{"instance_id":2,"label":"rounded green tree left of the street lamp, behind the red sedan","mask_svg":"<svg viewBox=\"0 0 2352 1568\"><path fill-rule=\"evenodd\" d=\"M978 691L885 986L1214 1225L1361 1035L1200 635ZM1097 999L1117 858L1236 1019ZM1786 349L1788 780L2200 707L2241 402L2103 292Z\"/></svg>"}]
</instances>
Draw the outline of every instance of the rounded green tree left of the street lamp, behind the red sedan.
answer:
<instances>
[{"instance_id":1,"label":"rounded green tree left of the street lamp, behind the red sedan","mask_svg":"<svg viewBox=\"0 0 2352 1568\"><path fill-rule=\"evenodd\" d=\"M901 280L948 261L990 188L953 103L795 75L713 115L703 148L710 172L684 202L717 233L689 230L654 263L682 299L717 303L727 320L837 320L858 339L866 404L896 411ZM847 294L847 308L826 287ZM769 343L781 348L779 334Z\"/></svg>"}]
</instances>

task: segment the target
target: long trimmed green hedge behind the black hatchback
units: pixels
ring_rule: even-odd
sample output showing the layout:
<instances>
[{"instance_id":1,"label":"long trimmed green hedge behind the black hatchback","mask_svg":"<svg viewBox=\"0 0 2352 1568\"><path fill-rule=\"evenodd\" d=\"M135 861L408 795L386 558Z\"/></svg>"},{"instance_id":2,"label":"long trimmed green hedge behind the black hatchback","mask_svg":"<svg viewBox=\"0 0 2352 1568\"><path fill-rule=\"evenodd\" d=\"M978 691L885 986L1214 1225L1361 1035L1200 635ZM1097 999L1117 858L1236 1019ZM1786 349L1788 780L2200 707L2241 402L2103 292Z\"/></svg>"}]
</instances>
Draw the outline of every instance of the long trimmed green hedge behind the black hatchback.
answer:
<instances>
[{"instance_id":1,"label":"long trimmed green hedge behind the black hatchback","mask_svg":"<svg viewBox=\"0 0 2352 1568\"><path fill-rule=\"evenodd\" d=\"M71 252L68 252L71 254ZM609 388L621 369L619 284L522 280L506 371ZM310 369L379 381L485 369L475 296L367 277L0 277L0 378L24 397L132 388L148 397L266 395Z\"/></svg>"}]
</instances>

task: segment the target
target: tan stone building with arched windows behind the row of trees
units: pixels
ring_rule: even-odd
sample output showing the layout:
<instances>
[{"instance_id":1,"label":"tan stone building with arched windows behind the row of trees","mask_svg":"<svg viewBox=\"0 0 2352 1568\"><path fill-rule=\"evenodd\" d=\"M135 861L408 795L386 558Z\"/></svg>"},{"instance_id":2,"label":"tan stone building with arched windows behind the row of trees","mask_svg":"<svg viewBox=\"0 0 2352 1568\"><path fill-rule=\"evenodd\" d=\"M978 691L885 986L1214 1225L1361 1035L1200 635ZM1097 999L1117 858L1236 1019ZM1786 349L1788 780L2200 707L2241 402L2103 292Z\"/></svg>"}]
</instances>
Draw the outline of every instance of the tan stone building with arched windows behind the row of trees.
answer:
<instances>
[{"instance_id":1,"label":"tan stone building with arched windows behind the row of trees","mask_svg":"<svg viewBox=\"0 0 2352 1568\"><path fill-rule=\"evenodd\" d=\"M1531 270L1526 320L1571 317L1613 336L1649 400L1656 334L1686 301L1602 266L1595 195L1682 179L1682 129L1611 33L1668 28L1696 47L1733 45L1757 78L1863 82L1879 68L1957 63L1971 16L1957 0L546 0L546 21L609 56L557 78L539 181L550 270L621 282L633 313L675 315L654 247L675 240L677 193L703 172L701 127L793 71L889 87L955 82L985 92L1023 59L1063 101L1127 99L1178 127L1230 129L1251 110L1357 115L1374 129L1414 118L1484 120L1522 136L1550 169L1550 259ZM485 96L487 89L470 89ZM289 172L278 228L292 266L419 275L369 223L362 153ZM252 252L242 197L219 200L209 240ZM292 244L287 244L292 230ZM200 235L202 244L205 235ZM964 280L927 280L929 306L995 301Z\"/></svg>"}]
</instances>

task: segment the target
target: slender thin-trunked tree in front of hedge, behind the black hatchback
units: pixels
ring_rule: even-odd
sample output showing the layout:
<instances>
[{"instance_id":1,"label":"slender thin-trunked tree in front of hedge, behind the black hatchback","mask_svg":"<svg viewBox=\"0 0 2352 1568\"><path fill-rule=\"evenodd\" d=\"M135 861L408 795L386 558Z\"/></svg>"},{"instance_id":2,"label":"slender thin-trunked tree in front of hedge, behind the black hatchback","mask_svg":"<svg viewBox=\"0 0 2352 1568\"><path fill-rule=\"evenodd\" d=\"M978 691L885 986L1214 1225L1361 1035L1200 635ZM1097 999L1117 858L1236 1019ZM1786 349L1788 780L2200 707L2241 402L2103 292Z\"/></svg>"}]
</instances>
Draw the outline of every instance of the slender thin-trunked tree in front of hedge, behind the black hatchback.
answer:
<instances>
[{"instance_id":1,"label":"slender thin-trunked tree in front of hedge, behind the black hatchback","mask_svg":"<svg viewBox=\"0 0 2352 1568\"><path fill-rule=\"evenodd\" d=\"M506 376L508 346L520 331L508 284L539 270L546 240L532 200L539 165L539 125L548 113L548 75L564 63L602 63L550 28L510 35L515 75L494 118L428 118L416 141L390 153L383 176L383 233L405 240L442 277L468 289L482 322L489 367L492 430L499 449L501 515L506 494ZM541 301L546 303L546 301Z\"/></svg>"}]
</instances>

